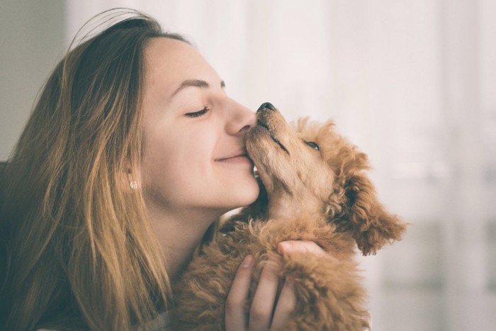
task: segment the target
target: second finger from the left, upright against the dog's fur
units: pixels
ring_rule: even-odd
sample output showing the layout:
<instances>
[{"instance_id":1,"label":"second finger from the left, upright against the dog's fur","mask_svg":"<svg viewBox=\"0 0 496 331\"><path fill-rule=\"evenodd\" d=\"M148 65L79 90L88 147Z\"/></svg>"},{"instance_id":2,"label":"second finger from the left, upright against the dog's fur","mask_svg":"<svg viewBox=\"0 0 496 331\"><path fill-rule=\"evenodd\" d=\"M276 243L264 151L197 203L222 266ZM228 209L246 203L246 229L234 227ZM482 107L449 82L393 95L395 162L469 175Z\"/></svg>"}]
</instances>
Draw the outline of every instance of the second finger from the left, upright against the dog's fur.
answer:
<instances>
[{"instance_id":1,"label":"second finger from the left, upright against the dog's fur","mask_svg":"<svg viewBox=\"0 0 496 331\"><path fill-rule=\"evenodd\" d=\"M280 264L270 259L261 271L252 308L249 311L249 330L269 330L279 284L279 269L281 269Z\"/></svg>"}]
</instances>

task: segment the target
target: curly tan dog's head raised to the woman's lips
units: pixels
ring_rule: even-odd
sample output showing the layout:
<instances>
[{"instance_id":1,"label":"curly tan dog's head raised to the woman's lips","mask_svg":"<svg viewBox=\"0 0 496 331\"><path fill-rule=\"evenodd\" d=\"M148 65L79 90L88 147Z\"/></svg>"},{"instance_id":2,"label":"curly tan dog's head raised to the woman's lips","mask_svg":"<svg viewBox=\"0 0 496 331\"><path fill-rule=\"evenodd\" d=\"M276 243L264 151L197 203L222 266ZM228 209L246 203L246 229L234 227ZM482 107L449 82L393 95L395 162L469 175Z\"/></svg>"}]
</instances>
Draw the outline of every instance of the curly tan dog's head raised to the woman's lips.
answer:
<instances>
[{"instance_id":1,"label":"curly tan dog's head raised to the woman's lips","mask_svg":"<svg viewBox=\"0 0 496 331\"><path fill-rule=\"evenodd\" d=\"M367 157L334 130L334 123L301 119L296 130L271 103L257 111L247 150L264 184L269 217L323 213L350 232L361 252L375 254L399 240L405 225L381 205Z\"/></svg>"}]
</instances>

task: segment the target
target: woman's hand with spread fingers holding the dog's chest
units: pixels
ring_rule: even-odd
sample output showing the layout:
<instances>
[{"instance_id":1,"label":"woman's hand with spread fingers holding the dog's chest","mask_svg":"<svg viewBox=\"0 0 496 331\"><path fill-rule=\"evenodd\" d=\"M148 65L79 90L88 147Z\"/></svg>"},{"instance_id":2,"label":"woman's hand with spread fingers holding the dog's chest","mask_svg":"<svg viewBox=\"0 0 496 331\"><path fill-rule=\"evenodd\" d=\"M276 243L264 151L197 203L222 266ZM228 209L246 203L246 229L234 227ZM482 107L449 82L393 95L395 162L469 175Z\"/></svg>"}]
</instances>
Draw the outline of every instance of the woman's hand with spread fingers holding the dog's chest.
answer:
<instances>
[{"instance_id":1,"label":"woman's hand with spread fingers holding the dog's chest","mask_svg":"<svg viewBox=\"0 0 496 331\"><path fill-rule=\"evenodd\" d=\"M288 240L278 244L278 252L291 254L302 252L321 256L327 254L315 242ZM225 330L281 330L296 307L296 296L293 279L286 278L277 305L278 271L281 262L270 260L261 271L259 284L255 291L249 316L244 313L244 305L248 298L249 284L254 268L253 257L247 255L237 269L225 304ZM273 314L274 312L274 314Z\"/></svg>"}]
</instances>

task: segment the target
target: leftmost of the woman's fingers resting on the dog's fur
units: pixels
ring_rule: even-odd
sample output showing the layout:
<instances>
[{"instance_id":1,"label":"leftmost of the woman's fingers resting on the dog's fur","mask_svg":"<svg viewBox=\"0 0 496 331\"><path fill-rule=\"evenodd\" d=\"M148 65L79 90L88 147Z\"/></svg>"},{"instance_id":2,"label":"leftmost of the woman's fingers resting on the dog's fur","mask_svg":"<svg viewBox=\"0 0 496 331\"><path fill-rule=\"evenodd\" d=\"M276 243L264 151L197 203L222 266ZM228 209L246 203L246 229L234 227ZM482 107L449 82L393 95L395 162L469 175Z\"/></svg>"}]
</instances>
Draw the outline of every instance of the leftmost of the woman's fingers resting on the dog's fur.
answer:
<instances>
[{"instance_id":1,"label":"leftmost of the woman's fingers resting on the dog's fur","mask_svg":"<svg viewBox=\"0 0 496 331\"><path fill-rule=\"evenodd\" d=\"M225 302L225 330L247 330L247 316L244 305L248 298L249 283L252 279L253 257L247 255L236 271L235 279Z\"/></svg>"}]
</instances>

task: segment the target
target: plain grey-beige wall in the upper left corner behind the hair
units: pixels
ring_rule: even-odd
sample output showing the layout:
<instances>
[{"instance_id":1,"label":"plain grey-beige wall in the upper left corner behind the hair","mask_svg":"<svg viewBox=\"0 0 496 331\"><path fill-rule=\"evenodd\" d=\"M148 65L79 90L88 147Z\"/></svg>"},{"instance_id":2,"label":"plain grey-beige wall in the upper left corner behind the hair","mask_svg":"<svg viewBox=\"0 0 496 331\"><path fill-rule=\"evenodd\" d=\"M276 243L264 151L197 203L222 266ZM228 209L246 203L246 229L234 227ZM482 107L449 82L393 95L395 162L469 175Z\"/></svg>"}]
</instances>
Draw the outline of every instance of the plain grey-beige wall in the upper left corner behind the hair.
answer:
<instances>
[{"instance_id":1,"label":"plain grey-beige wall in the upper left corner behind the hair","mask_svg":"<svg viewBox=\"0 0 496 331\"><path fill-rule=\"evenodd\" d=\"M65 1L0 1L0 161L64 47Z\"/></svg>"}]
</instances>

